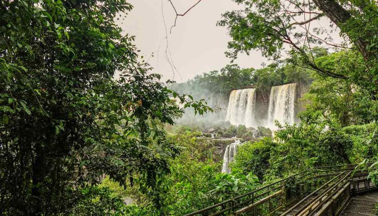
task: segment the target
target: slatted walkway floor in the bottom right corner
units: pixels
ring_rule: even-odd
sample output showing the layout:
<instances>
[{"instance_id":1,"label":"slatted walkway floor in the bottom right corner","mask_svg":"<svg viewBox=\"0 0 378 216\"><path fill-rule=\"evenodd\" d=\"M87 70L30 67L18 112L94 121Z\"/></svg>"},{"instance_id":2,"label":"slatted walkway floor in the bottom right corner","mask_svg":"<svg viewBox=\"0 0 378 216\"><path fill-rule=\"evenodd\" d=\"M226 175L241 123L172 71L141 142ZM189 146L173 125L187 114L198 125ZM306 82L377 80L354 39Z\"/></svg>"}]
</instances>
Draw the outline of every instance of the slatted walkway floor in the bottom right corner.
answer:
<instances>
[{"instance_id":1,"label":"slatted walkway floor in the bottom right corner","mask_svg":"<svg viewBox=\"0 0 378 216\"><path fill-rule=\"evenodd\" d=\"M378 202L378 191L353 196L347 207L341 212L342 216L376 215L375 205Z\"/></svg>"}]
</instances>

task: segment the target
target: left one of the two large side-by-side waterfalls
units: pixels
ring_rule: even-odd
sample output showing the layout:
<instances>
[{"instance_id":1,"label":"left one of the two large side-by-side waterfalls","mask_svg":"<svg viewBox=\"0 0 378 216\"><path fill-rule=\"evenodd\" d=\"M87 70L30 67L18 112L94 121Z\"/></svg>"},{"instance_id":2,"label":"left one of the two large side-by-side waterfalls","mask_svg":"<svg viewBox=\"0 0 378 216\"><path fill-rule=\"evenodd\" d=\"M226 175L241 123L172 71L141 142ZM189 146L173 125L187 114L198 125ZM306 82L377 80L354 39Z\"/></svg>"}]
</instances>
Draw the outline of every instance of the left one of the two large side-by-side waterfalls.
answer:
<instances>
[{"instance_id":1,"label":"left one of the two large side-by-side waterfalls","mask_svg":"<svg viewBox=\"0 0 378 216\"><path fill-rule=\"evenodd\" d=\"M226 121L229 121L232 125L257 127L255 109L255 88L232 90L228 100Z\"/></svg>"}]
</instances>

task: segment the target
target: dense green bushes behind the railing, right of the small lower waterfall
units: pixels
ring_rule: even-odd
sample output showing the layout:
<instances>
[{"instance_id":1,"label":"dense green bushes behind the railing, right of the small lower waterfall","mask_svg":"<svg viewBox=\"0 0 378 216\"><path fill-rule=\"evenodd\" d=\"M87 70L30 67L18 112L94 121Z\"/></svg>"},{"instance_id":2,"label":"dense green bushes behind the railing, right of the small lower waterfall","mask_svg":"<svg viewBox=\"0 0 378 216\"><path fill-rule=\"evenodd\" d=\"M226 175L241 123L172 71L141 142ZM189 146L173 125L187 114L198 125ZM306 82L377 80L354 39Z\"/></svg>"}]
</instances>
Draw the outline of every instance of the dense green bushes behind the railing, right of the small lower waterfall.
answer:
<instances>
[{"instance_id":1,"label":"dense green bushes behind the railing, right of the small lower waterfall","mask_svg":"<svg viewBox=\"0 0 378 216\"><path fill-rule=\"evenodd\" d=\"M303 116L301 120L294 126L277 123L281 130L275 137L279 144L270 153L270 177L280 178L314 166L350 163L346 152L352 140L348 135L323 120Z\"/></svg>"}]
</instances>

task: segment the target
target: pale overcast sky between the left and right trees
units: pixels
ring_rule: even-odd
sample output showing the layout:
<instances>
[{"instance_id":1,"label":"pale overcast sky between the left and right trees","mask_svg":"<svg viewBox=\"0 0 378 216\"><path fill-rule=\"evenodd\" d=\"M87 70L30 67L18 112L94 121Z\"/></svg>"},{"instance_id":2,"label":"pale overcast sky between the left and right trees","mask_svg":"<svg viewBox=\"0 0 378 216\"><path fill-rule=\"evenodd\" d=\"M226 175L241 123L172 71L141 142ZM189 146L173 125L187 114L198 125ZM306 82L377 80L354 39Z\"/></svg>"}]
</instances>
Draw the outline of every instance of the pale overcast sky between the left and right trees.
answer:
<instances>
[{"instance_id":1,"label":"pale overcast sky between the left and right trees","mask_svg":"<svg viewBox=\"0 0 378 216\"><path fill-rule=\"evenodd\" d=\"M198 0L172 2L178 13L184 13ZM149 59L154 72L162 74L164 80L186 81L197 74L219 70L230 63L230 59L224 54L230 38L227 30L217 27L216 23L221 19L222 13L237 9L238 6L231 0L202 0L184 17L178 17L171 34L169 29L174 23L175 13L167 0L129 0L129 3L134 9L120 26L126 33L136 36L140 54ZM170 56L178 73L173 73L165 57L163 14ZM251 52L249 56L239 55L235 61L243 68L261 68L263 62L267 60L258 51Z\"/></svg>"}]
</instances>

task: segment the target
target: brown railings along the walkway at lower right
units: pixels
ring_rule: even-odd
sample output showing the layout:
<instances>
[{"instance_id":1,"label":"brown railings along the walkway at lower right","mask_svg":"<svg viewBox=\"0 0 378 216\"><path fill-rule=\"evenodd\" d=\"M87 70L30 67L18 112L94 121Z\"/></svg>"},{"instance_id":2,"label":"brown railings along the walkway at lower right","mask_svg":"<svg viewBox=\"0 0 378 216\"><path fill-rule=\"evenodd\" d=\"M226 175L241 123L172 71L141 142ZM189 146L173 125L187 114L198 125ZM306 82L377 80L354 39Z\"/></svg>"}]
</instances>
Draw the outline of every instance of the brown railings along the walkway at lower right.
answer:
<instances>
[{"instance_id":1,"label":"brown railings along the walkway at lower right","mask_svg":"<svg viewBox=\"0 0 378 216\"><path fill-rule=\"evenodd\" d=\"M367 179L367 172L355 170L358 164L314 167L248 193L233 197L184 216L193 215L274 215L285 209L286 215L337 215L350 196L376 189ZM309 179L315 183L307 183ZM294 183L293 183L294 182ZM308 193L306 189L314 189ZM299 207L309 197L313 199ZM293 203L299 201L293 205ZM319 211L319 212L318 212Z\"/></svg>"}]
</instances>

